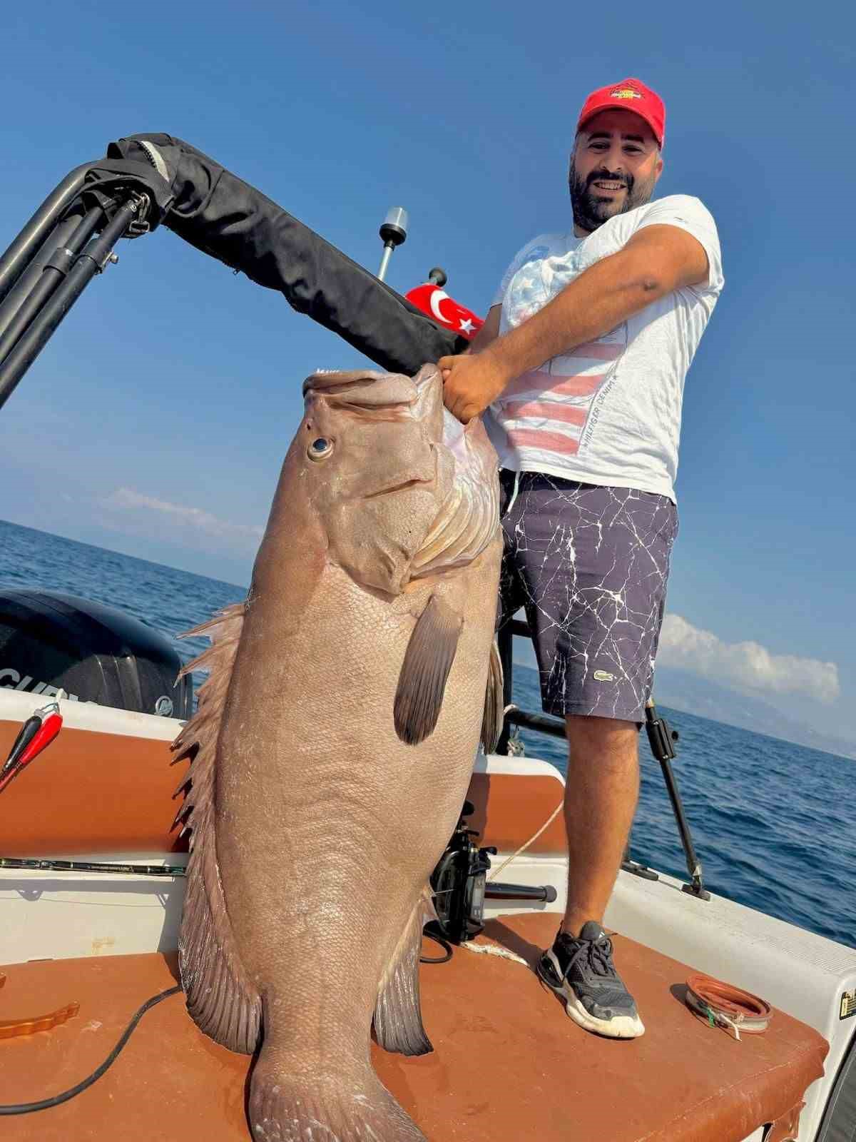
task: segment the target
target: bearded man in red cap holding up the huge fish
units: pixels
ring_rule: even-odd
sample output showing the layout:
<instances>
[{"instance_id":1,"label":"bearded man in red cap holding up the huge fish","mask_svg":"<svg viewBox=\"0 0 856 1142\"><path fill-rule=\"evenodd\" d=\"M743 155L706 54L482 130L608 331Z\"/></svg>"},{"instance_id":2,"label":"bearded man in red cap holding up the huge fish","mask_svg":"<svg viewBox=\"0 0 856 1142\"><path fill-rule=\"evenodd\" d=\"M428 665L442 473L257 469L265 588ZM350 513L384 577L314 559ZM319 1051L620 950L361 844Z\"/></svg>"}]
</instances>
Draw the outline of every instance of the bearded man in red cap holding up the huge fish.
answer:
<instances>
[{"instance_id":1,"label":"bearded man in red cap holding up the huge fish","mask_svg":"<svg viewBox=\"0 0 856 1142\"><path fill-rule=\"evenodd\" d=\"M525 608L543 708L566 719L567 907L538 972L572 1019L614 1038L644 1026L603 916L639 790L684 378L724 283L702 203L649 201L664 121L639 80L589 96L572 230L527 243L469 352L439 361L446 407L465 423L484 412L500 456L499 622Z\"/></svg>"}]
</instances>

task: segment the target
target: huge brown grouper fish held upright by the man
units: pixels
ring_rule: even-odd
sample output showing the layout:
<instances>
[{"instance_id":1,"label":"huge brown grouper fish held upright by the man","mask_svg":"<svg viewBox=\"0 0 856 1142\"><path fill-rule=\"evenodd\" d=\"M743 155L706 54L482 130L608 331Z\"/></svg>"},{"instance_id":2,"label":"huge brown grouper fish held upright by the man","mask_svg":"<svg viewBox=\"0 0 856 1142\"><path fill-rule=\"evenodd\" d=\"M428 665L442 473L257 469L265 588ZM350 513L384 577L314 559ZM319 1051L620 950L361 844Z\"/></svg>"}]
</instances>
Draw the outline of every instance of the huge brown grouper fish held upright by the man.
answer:
<instances>
[{"instance_id":1,"label":"huge brown grouper fish held upright by the man","mask_svg":"<svg viewBox=\"0 0 856 1142\"><path fill-rule=\"evenodd\" d=\"M496 456L414 378L317 372L245 603L212 645L179 818L179 963L199 1027L259 1055L259 1142L425 1142L371 1065L430 1051L419 1008L429 876L479 735L502 719L493 644Z\"/></svg>"}]
</instances>

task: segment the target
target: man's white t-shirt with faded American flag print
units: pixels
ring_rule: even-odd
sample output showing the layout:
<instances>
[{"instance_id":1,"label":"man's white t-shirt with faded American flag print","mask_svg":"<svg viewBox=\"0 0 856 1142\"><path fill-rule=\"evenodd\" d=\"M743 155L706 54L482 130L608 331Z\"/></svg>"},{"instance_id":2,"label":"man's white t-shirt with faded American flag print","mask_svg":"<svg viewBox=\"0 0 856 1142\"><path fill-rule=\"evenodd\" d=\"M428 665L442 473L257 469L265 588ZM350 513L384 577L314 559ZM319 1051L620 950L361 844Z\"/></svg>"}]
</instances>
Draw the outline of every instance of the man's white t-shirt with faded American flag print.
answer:
<instances>
[{"instance_id":1,"label":"man's white t-shirt with faded American flag print","mask_svg":"<svg viewBox=\"0 0 856 1142\"><path fill-rule=\"evenodd\" d=\"M725 282L717 226L702 202L672 194L615 215L582 239L573 228L541 234L508 267L493 305L502 306L506 333L643 226L663 224L701 242L708 281L667 293L511 381L484 415L503 468L675 500L684 378Z\"/></svg>"}]
</instances>

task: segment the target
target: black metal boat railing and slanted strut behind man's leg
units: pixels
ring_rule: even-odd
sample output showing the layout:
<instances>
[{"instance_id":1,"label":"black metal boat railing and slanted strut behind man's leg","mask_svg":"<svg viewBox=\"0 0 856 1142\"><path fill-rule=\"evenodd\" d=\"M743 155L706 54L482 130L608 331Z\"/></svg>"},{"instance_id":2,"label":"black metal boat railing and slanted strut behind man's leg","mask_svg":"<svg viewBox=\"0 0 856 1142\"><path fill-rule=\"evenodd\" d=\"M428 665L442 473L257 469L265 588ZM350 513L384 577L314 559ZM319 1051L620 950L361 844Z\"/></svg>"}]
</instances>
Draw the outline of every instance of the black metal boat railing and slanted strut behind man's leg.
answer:
<instances>
[{"instance_id":1,"label":"black metal boat railing and slanted strut behind man's leg","mask_svg":"<svg viewBox=\"0 0 856 1142\"><path fill-rule=\"evenodd\" d=\"M566 740L565 722L563 718L552 717L549 714L533 714L530 710L520 709L514 701L512 648L515 635L520 638L531 640L532 635L528 624L523 619L511 619L510 622L507 622L498 634L503 677L502 703L506 708L502 734L496 746L496 751L499 754L516 751L514 742L517 739L511 735L511 730L515 726L523 730L532 730L536 733L543 733L551 738L560 738L563 741ZM684 812L684 803L680 797L678 781L675 777L675 771L671 764L677 756L675 747L678 741L678 732L677 730L672 730L664 717L660 717L657 715L653 698L651 698L645 706L645 729L651 751L660 763L663 781L669 795L672 813L675 814L675 821L678 827L680 844L684 849L687 872L689 874L689 883L681 886L683 891L693 896L697 896L700 900L710 900L710 893L704 887L702 862L698 860L695 852L695 845L693 844L693 837L689 831L689 822L687 821L686 813ZM625 871L632 872L635 876L640 876L651 880L657 879L657 874L653 869L649 869L646 864L631 859L629 841L621 867Z\"/></svg>"}]
</instances>

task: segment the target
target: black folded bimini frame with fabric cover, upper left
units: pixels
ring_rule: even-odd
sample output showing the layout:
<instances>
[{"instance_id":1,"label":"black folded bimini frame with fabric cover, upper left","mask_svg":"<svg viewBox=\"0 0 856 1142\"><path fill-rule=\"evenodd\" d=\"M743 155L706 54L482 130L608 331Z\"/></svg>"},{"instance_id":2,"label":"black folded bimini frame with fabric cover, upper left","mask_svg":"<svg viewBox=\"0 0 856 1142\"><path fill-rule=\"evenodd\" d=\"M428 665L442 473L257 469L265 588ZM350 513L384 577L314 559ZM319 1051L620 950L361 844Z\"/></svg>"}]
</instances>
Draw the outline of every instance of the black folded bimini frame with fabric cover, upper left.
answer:
<instances>
[{"instance_id":1,"label":"black folded bimini frame with fabric cover, upper left","mask_svg":"<svg viewBox=\"0 0 856 1142\"><path fill-rule=\"evenodd\" d=\"M0 407L115 260L119 239L161 223L280 290L382 369L412 376L468 345L201 151L171 135L132 135L63 179L0 258Z\"/></svg>"}]
</instances>

